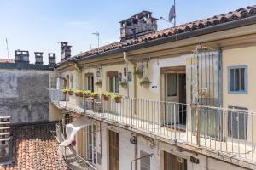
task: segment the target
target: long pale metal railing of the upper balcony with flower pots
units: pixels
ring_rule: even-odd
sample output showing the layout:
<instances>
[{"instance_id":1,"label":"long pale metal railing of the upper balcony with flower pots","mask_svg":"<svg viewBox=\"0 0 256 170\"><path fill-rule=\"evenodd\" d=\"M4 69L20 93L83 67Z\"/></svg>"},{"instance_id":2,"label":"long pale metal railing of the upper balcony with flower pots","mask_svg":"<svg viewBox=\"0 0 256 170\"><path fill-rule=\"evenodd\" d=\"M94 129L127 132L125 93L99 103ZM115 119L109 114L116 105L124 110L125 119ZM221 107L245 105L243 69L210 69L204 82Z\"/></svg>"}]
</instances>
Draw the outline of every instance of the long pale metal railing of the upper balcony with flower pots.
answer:
<instances>
[{"instance_id":1,"label":"long pale metal railing of the upper balcony with flower pots","mask_svg":"<svg viewBox=\"0 0 256 170\"><path fill-rule=\"evenodd\" d=\"M104 101L73 95L69 96L73 101L65 101L59 95L61 92L55 91L50 90L49 96L61 109L119 123L175 144L189 144L255 161L255 111L131 98L116 103L113 99Z\"/></svg>"}]
</instances>

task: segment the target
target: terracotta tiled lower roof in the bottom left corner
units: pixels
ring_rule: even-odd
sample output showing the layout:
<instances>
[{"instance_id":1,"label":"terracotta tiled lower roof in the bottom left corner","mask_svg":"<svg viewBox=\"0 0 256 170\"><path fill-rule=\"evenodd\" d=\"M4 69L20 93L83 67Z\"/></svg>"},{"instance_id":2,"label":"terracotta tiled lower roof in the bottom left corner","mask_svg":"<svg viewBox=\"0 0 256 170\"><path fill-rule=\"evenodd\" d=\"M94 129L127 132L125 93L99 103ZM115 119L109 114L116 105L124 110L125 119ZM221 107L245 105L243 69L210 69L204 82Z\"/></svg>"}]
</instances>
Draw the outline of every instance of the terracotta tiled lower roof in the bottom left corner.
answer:
<instances>
[{"instance_id":1,"label":"terracotta tiled lower roof in the bottom left corner","mask_svg":"<svg viewBox=\"0 0 256 170\"><path fill-rule=\"evenodd\" d=\"M55 130L55 124L13 128L13 164L0 166L0 170L67 169L57 155L58 144L51 130Z\"/></svg>"}]
</instances>

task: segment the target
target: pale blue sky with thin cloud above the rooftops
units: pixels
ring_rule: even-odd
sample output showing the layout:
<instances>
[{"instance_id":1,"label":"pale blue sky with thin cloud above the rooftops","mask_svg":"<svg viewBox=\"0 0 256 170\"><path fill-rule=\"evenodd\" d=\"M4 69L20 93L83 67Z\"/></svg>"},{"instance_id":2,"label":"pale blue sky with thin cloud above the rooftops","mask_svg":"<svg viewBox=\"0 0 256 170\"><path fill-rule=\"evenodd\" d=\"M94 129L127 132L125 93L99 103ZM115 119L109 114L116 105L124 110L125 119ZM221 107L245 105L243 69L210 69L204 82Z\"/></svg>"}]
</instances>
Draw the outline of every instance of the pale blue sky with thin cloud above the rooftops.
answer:
<instances>
[{"instance_id":1,"label":"pale blue sky with thin cloud above the rooftops","mask_svg":"<svg viewBox=\"0 0 256 170\"><path fill-rule=\"evenodd\" d=\"M60 61L60 43L73 46L72 55L100 45L119 41L119 21L143 10L155 18L167 18L173 0L0 0L0 58L15 58L15 49L29 50L30 62L34 52L56 53ZM224 14L237 8L256 4L256 0L176 0L177 25ZM171 27L158 21L159 30Z\"/></svg>"}]
</instances>

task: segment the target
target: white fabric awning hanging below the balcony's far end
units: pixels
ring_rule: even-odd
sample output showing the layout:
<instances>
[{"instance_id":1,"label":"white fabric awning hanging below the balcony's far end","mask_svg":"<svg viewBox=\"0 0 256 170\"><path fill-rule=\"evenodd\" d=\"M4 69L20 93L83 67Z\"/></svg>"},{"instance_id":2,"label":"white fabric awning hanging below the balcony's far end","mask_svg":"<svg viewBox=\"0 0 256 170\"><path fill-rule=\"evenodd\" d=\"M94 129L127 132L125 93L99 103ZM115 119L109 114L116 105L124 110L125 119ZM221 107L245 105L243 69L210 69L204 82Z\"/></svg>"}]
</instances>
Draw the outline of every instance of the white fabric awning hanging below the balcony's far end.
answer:
<instances>
[{"instance_id":1,"label":"white fabric awning hanging below the balcony's far end","mask_svg":"<svg viewBox=\"0 0 256 170\"><path fill-rule=\"evenodd\" d=\"M88 120L86 117L82 117L66 125L67 139L61 142L61 144L59 145L58 153L60 154L60 156L63 156L65 154L65 147L72 143L76 133L78 133L81 128L87 127L91 124L92 121Z\"/></svg>"}]
</instances>

